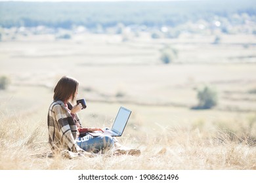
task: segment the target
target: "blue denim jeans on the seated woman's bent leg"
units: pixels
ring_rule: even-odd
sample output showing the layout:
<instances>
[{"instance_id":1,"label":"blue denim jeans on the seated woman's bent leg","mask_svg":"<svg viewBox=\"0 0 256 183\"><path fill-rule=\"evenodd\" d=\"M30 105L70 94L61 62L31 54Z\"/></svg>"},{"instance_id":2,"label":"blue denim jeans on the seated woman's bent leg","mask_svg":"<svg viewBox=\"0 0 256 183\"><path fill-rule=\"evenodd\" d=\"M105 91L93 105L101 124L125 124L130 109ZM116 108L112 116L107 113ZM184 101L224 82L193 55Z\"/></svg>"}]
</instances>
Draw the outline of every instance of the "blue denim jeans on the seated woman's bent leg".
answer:
<instances>
[{"instance_id":1,"label":"blue denim jeans on the seated woman's bent leg","mask_svg":"<svg viewBox=\"0 0 256 183\"><path fill-rule=\"evenodd\" d=\"M77 145L87 152L98 153L100 150L108 150L114 146L114 139L110 135L93 137L86 135L77 138Z\"/></svg>"}]
</instances>

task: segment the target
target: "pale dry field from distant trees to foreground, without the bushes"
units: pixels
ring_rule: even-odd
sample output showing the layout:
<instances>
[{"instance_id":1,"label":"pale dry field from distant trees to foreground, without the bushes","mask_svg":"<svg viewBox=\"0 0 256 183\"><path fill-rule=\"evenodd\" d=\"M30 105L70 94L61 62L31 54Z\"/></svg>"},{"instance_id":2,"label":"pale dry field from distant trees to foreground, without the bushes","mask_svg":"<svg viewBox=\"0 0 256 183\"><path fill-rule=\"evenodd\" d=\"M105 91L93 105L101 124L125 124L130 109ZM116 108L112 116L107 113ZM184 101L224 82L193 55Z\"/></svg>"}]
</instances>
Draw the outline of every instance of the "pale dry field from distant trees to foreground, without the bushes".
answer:
<instances>
[{"instance_id":1,"label":"pale dry field from distant trees to foreground, without the bushes","mask_svg":"<svg viewBox=\"0 0 256 183\"><path fill-rule=\"evenodd\" d=\"M19 35L0 42L0 169L256 169L255 35L84 33L72 39ZM178 50L173 63L160 50ZM110 127L119 106L133 112L122 144L140 156L47 156L47 112L63 75L79 80L79 116L87 127ZM198 105L197 89L214 86L219 103Z\"/></svg>"}]
</instances>

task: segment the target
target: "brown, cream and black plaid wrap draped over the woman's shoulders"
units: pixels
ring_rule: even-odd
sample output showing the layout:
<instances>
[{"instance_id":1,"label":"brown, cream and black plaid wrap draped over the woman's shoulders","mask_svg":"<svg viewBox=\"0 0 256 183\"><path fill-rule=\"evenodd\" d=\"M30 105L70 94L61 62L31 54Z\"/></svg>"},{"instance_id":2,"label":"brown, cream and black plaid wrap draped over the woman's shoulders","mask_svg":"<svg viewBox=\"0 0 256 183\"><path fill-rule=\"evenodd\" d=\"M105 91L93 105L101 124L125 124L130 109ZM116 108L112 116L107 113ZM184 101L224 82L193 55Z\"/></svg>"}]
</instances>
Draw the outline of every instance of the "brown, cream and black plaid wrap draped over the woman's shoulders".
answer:
<instances>
[{"instance_id":1,"label":"brown, cream and black plaid wrap draped over the woman's shoulders","mask_svg":"<svg viewBox=\"0 0 256 183\"><path fill-rule=\"evenodd\" d=\"M72 107L70 103L68 105L69 108ZM73 118L62 101L53 101L49 107L47 118L49 144L53 153L62 152L63 150L71 152L81 150L75 142L77 137L76 122L81 125L77 114Z\"/></svg>"}]
</instances>

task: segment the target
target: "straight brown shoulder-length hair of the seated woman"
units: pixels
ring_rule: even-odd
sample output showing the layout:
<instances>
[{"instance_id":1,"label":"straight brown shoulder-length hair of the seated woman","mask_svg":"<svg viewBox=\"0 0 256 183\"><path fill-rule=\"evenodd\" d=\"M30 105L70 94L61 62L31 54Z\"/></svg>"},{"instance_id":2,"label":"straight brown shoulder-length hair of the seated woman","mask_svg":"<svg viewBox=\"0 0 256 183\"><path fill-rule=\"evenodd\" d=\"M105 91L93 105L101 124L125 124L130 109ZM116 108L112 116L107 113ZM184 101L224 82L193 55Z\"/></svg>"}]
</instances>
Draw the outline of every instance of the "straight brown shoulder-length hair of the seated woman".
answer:
<instances>
[{"instance_id":1,"label":"straight brown shoulder-length hair of the seated woman","mask_svg":"<svg viewBox=\"0 0 256 183\"><path fill-rule=\"evenodd\" d=\"M75 80L74 78L71 78L69 76L63 76L60 78L58 83L56 84L54 88L54 95L53 99L54 101L68 101L70 96L72 96L72 103L75 99L75 92L78 88L79 82Z\"/></svg>"}]
</instances>

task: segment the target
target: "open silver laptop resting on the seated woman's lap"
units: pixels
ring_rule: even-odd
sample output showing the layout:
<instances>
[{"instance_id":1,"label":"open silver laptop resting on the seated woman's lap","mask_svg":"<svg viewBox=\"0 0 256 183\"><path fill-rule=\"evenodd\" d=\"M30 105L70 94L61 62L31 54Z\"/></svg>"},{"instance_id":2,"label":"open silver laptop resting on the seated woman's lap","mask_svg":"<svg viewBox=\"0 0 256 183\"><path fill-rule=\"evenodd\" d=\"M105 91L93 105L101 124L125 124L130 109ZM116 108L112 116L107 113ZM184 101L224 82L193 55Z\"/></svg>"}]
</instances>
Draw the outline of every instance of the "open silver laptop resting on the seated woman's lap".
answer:
<instances>
[{"instance_id":1,"label":"open silver laptop resting on the seated woman's lap","mask_svg":"<svg viewBox=\"0 0 256 183\"><path fill-rule=\"evenodd\" d=\"M125 126L129 120L130 115L131 110L124 107L120 107L111 129L104 129L104 132L93 131L89 132L89 134L93 136L100 136L103 134L110 135L112 137L120 137L123 134L123 130L125 129Z\"/></svg>"}]
</instances>

